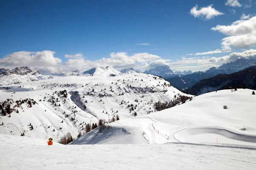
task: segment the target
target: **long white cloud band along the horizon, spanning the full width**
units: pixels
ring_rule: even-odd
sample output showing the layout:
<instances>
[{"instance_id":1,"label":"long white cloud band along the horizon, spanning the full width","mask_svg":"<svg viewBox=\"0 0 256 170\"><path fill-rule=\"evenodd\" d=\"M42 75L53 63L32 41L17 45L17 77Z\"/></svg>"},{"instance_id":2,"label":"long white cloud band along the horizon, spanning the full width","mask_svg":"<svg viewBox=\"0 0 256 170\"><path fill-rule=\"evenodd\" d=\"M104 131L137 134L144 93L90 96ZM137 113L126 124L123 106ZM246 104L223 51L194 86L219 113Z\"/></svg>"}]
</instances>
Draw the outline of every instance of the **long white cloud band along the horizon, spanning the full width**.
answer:
<instances>
[{"instance_id":1,"label":"long white cloud band along the horizon, spanning the full width","mask_svg":"<svg viewBox=\"0 0 256 170\"><path fill-rule=\"evenodd\" d=\"M128 55L125 52L111 53L108 58L92 61L84 58L70 58L66 62L54 57L53 51L29 52L20 51L0 59L0 68L15 68L29 66L32 70L39 70L43 74L61 74L66 71L85 71L93 67L113 66L116 69L135 68L145 70L158 65L169 65L173 70L205 71L208 68L218 67L223 63L233 62L239 58L256 59L256 49L240 53L232 53L223 57L182 57L180 60L162 59L160 56L149 53Z\"/></svg>"}]
</instances>

